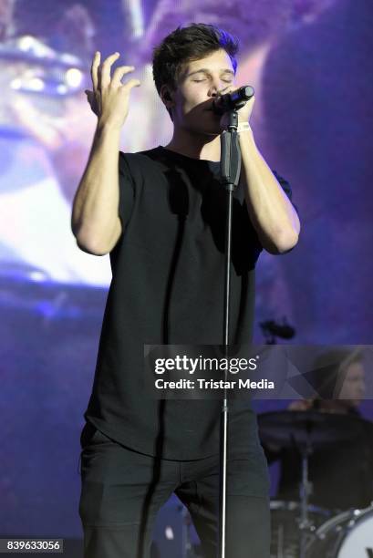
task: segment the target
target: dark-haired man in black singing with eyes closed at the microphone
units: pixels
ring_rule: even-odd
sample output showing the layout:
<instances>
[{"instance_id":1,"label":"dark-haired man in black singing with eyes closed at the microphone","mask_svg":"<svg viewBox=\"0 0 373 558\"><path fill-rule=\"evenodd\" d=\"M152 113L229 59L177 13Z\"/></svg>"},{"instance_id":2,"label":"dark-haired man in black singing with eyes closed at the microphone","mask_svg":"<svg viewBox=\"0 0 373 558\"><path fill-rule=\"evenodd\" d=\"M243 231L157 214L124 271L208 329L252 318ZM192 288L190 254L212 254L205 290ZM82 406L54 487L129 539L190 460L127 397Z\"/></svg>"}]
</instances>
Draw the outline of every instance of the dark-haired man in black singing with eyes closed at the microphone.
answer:
<instances>
[{"instance_id":1,"label":"dark-haired man in black singing with eyes closed at the microphone","mask_svg":"<svg viewBox=\"0 0 373 558\"><path fill-rule=\"evenodd\" d=\"M154 49L153 76L173 135L167 146L119 152L138 79L110 72L119 54L92 63L88 102L98 116L78 186L72 229L78 246L109 253L109 288L92 394L81 434L79 513L85 558L149 556L157 511L174 492L191 513L205 558L216 556L219 399L144 397L143 346L219 345L223 335L226 193L212 110L238 88L237 42L210 25L178 27ZM233 193L231 344L250 343L254 266L298 239L288 183L271 171L239 109L240 184ZM144 113L144 119L146 113ZM138 124L142 125L141 122ZM243 404L244 403L244 404ZM268 472L250 404L230 404L226 556L268 558Z\"/></svg>"}]
</instances>

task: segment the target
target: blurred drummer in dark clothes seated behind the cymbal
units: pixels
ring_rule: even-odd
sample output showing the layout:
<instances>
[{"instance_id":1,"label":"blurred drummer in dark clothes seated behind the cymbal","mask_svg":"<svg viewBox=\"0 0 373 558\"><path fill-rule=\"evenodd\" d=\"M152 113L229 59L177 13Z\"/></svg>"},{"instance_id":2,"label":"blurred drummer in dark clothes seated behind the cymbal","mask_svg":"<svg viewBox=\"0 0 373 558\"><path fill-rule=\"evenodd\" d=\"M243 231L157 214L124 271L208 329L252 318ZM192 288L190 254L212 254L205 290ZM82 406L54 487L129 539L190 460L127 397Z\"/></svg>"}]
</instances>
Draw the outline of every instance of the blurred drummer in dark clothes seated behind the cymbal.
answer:
<instances>
[{"instance_id":1,"label":"blurred drummer in dark clothes seated behind the cymbal","mask_svg":"<svg viewBox=\"0 0 373 558\"><path fill-rule=\"evenodd\" d=\"M333 367L330 362L334 363ZM361 352L326 351L317 357L313 369L319 397L293 401L289 409L360 416L358 407L365 393ZM276 499L297 501L301 480L299 450L264 446L264 451L269 463L275 460L281 463ZM315 447L309 458L308 473L310 504L333 511L367 507L373 501L373 450L368 432L346 443L331 441L328 446Z\"/></svg>"}]
</instances>

